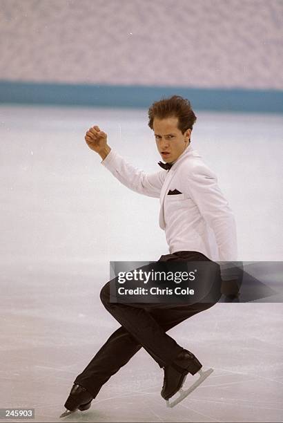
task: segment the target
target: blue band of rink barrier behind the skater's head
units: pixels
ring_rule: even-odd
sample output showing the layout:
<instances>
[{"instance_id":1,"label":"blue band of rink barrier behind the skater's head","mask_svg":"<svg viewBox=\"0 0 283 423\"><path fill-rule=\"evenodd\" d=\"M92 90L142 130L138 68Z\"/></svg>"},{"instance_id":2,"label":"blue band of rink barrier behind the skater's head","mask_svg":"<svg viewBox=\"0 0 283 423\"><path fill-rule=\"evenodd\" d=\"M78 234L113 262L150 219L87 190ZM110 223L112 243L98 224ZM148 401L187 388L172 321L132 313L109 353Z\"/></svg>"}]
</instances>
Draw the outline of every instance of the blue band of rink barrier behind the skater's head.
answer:
<instances>
[{"instance_id":1,"label":"blue band of rink barrier behind the skater's head","mask_svg":"<svg viewBox=\"0 0 283 423\"><path fill-rule=\"evenodd\" d=\"M282 113L283 91L184 86L55 84L0 80L0 103L148 108L181 95L196 110Z\"/></svg>"}]
</instances>

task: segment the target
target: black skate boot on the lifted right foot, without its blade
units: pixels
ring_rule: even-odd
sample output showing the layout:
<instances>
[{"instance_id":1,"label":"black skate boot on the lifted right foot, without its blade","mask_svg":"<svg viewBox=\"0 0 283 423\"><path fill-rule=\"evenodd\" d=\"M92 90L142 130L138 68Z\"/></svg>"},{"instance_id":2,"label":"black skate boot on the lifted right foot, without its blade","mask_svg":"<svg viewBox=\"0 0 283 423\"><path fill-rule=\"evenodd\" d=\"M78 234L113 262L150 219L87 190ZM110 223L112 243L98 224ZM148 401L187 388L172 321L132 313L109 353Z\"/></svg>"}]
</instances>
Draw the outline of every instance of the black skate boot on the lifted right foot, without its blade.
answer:
<instances>
[{"instance_id":1,"label":"black skate boot on the lifted right foot, without its blade","mask_svg":"<svg viewBox=\"0 0 283 423\"><path fill-rule=\"evenodd\" d=\"M202 364L188 350L182 350L170 366L164 367L164 384L161 395L164 400L169 400L183 386L186 375L195 375L202 368Z\"/></svg>"}]
</instances>

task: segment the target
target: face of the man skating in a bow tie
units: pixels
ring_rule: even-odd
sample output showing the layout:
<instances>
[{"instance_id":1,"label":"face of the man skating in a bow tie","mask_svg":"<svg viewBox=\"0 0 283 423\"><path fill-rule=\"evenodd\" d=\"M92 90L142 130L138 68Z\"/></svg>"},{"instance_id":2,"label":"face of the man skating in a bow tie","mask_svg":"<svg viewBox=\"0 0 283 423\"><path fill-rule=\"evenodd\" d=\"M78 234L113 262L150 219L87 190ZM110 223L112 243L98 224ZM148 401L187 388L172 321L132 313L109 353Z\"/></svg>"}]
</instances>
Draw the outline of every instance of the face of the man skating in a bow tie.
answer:
<instances>
[{"instance_id":1,"label":"face of the man skating in a bow tie","mask_svg":"<svg viewBox=\"0 0 283 423\"><path fill-rule=\"evenodd\" d=\"M175 162L188 147L191 129L184 134L178 129L178 118L153 120L157 149L166 163Z\"/></svg>"}]
</instances>

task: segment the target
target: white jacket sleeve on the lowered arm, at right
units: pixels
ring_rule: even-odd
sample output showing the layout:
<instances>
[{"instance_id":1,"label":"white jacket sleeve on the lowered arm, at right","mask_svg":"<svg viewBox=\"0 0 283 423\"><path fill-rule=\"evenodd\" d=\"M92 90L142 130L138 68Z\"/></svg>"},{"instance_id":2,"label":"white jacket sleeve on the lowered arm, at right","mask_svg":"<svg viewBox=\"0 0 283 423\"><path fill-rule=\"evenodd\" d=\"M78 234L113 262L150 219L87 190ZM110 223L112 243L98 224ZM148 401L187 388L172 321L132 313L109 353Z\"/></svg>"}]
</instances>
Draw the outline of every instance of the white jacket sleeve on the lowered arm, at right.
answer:
<instances>
[{"instance_id":1,"label":"white jacket sleeve on the lowered arm, at right","mask_svg":"<svg viewBox=\"0 0 283 423\"><path fill-rule=\"evenodd\" d=\"M184 191L215 234L219 261L237 260L237 232L233 212L217 185L217 176L199 162L183 171Z\"/></svg>"}]
</instances>

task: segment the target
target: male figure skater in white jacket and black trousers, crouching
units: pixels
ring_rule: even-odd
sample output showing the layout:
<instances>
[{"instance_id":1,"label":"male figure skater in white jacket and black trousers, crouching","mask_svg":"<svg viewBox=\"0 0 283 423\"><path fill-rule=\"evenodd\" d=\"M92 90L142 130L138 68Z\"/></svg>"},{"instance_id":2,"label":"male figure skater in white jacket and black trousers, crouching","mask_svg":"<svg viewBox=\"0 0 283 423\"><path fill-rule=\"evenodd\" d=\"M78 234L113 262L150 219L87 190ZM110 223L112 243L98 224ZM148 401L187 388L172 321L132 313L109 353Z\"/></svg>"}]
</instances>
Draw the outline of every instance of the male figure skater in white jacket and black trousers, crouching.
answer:
<instances>
[{"instance_id":1,"label":"male figure skater in white jacket and black trousers, crouching","mask_svg":"<svg viewBox=\"0 0 283 423\"><path fill-rule=\"evenodd\" d=\"M147 175L111 149L107 135L93 126L86 132L88 147L99 153L102 164L126 187L139 194L160 198L159 225L166 233L169 254L159 261L235 261L235 218L217 185L215 173L191 147L196 116L188 100L177 95L155 102L148 111L148 125L155 133L163 168ZM219 284L220 277L217 279ZM219 296L220 288L217 285ZM237 294L237 285L233 287ZM219 299L219 296L217 299ZM84 371L77 376L66 401L75 411L90 407L101 386L137 351L146 351L164 368L162 397L168 400L182 387L188 373L195 375L202 364L166 332L215 302L179 304L110 301L110 283L101 290L101 301L121 327L110 336Z\"/></svg>"}]
</instances>

